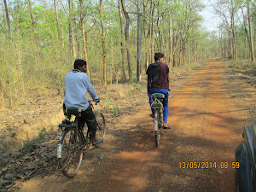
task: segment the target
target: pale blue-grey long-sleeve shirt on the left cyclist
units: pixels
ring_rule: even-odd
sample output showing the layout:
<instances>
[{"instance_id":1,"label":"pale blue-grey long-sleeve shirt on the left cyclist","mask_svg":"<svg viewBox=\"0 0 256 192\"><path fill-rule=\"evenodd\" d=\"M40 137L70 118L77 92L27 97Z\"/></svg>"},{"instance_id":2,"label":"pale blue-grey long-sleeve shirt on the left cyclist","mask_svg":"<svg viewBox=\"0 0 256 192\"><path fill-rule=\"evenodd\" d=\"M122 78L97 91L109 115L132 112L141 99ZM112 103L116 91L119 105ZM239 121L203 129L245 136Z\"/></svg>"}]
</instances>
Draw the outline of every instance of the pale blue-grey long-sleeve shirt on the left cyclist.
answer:
<instances>
[{"instance_id":1,"label":"pale blue-grey long-sleeve shirt on the left cyclist","mask_svg":"<svg viewBox=\"0 0 256 192\"><path fill-rule=\"evenodd\" d=\"M89 107L86 92L89 92L91 98L96 101L98 96L90 83L90 79L86 73L70 72L65 77L65 97L64 103L66 108L76 107L83 111Z\"/></svg>"}]
</instances>

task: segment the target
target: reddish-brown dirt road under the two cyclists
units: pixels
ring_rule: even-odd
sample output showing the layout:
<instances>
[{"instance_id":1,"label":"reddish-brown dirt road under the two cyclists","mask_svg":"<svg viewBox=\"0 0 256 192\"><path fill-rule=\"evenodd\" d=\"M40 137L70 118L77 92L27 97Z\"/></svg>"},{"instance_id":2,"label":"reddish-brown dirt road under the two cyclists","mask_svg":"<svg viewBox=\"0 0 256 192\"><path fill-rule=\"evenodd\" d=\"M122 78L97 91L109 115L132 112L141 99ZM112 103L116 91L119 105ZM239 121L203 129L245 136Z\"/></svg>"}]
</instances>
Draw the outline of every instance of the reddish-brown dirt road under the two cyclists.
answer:
<instances>
[{"instance_id":1,"label":"reddish-brown dirt road under the two cyclists","mask_svg":"<svg viewBox=\"0 0 256 192\"><path fill-rule=\"evenodd\" d=\"M210 61L173 86L171 130L163 131L159 148L150 133L153 121L145 104L119 122L108 122L106 142L102 148L84 152L76 177L68 179L55 172L32 178L20 191L235 191L235 169L230 163L243 126L251 123L247 103L253 97L235 103L230 84L234 88L235 83L225 77L223 64ZM235 88L241 90L240 85ZM208 168L194 168L199 162ZM223 168L223 162L229 167Z\"/></svg>"}]
</instances>

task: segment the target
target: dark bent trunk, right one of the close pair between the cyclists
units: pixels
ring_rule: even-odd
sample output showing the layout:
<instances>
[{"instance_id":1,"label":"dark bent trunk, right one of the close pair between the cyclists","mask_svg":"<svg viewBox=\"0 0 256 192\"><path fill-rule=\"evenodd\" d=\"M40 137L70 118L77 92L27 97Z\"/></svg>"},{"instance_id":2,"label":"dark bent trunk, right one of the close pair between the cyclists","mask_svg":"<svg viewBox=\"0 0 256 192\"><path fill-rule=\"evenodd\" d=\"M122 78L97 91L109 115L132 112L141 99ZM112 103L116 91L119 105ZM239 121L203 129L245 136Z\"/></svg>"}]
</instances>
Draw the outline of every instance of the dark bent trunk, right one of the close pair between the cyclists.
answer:
<instances>
[{"instance_id":1,"label":"dark bent trunk, right one of the close pair between the cyclists","mask_svg":"<svg viewBox=\"0 0 256 192\"><path fill-rule=\"evenodd\" d=\"M128 61L128 70L129 70L129 81L132 78L132 71L131 71L131 54L130 54L130 40L129 40L129 15L125 9L125 0L121 0L123 12L125 14L125 45L127 51L127 61Z\"/></svg>"}]
</instances>

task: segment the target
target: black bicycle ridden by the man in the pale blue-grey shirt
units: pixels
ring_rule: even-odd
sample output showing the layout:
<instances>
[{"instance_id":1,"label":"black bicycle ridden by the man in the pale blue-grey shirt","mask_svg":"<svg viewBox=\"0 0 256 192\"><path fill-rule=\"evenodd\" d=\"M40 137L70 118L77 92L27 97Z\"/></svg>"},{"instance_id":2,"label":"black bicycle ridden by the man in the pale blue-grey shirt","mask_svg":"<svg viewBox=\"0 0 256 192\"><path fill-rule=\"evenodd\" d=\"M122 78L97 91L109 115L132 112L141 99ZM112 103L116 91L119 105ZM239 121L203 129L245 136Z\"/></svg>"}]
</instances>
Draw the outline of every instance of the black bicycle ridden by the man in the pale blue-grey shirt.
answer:
<instances>
[{"instance_id":1,"label":"black bicycle ridden by the man in the pale blue-grey shirt","mask_svg":"<svg viewBox=\"0 0 256 192\"><path fill-rule=\"evenodd\" d=\"M94 109L92 101L89 100L89 103L96 115L97 137L104 140L106 135L106 120L102 113ZM91 143L90 133L86 123L82 129L79 127L78 117L81 117L81 113L81 108L67 108L64 111L66 119L59 125L62 132L59 143L57 144L58 166L61 172L69 178L74 177L79 171L83 160L83 150L90 148ZM75 116L74 121L71 121L72 116ZM86 135L84 135L85 131Z\"/></svg>"}]
</instances>

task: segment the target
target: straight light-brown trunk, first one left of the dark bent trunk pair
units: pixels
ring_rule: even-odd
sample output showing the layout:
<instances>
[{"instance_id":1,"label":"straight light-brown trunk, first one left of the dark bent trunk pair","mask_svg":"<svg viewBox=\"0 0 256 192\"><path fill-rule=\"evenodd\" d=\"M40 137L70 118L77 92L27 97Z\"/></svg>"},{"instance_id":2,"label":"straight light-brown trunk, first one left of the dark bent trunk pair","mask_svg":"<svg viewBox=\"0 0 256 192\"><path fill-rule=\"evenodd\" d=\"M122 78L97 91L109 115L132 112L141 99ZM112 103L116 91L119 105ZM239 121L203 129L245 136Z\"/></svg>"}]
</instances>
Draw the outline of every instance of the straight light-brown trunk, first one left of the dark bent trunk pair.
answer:
<instances>
[{"instance_id":1,"label":"straight light-brown trunk, first one left of the dark bent trunk pair","mask_svg":"<svg viewBox=\"0 0 256 192\"><path fill-rule=\"evenodd\" d=\"M104 85L107 85L107 69L106 69L106 34L105 34L105 28L103 24L103 4L102 0L100 0L100 12L101 12L101 25L102 25L102 50L103 50L103 55L102 55L102 70L103 70L103 80L104 80Z\"/></svg>"}]
</instances>

